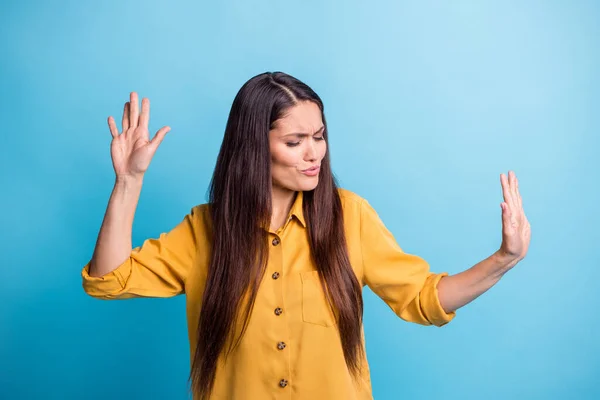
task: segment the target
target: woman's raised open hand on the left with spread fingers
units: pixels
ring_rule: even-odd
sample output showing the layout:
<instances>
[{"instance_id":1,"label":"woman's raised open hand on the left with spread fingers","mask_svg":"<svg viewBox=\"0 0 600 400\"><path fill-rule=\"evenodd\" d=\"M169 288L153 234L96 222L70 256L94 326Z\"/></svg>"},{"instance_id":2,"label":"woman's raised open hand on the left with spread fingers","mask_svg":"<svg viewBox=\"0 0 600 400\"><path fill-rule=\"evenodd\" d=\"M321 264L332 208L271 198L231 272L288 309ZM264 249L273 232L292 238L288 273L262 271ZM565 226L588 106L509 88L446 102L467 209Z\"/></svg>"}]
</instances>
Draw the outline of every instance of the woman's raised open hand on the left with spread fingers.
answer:
<instances>
[{"instance_id":1,"label":"woman's raised open hand on the left with spread fingers","mask_svg":"<svg viewBox=\"0 0 600 400\"><path fill-rule=\"evenodd\" d=\"M110 154L117 178L141 178L150 165L156 149L171 130L163 126L150 140L148 121L150 120L150 100L142 99L142 112L139 113L138 96L131 92L130 101L123 109L123 130L119 133L115 119L108 117L108 127L113 137Z\"/></svg>"}]
</instances>

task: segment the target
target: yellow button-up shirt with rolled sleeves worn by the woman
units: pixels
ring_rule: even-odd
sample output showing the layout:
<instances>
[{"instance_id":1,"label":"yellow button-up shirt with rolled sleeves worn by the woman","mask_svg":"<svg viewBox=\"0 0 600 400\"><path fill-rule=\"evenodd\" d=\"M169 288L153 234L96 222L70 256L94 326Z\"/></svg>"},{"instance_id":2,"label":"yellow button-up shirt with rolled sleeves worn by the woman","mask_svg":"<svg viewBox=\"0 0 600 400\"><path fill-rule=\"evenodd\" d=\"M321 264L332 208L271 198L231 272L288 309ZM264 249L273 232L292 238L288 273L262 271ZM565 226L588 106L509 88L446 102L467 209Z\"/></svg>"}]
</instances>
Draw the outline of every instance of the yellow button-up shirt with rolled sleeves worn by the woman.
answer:
<instances>
[{"instance_id":1,"label":"yellow button-up shirt with rolled sleeves worn by the woman","mask_svg":"<svg viewBox=\"0 0 600 400\"><path fill-rule=\"evenodd\" d=\"M406 321L442 326L454 318L441 307L436 288L447 273L432 273L422 258L405 253L365 199L345 189L339 193L350 263L361 287L368 285ZM366 358L359 380L346 366L310 257L302 198L298 192L284 226L269 232L268 265L247 330L227 360L221 357L211 399L373 398ZM207 204L197 205L173 230L144 241L109 274L91 277L88 263L82 271L85 292L102 299L185 293L193 357L210 224Z\"/></svg>"}]
</instances>

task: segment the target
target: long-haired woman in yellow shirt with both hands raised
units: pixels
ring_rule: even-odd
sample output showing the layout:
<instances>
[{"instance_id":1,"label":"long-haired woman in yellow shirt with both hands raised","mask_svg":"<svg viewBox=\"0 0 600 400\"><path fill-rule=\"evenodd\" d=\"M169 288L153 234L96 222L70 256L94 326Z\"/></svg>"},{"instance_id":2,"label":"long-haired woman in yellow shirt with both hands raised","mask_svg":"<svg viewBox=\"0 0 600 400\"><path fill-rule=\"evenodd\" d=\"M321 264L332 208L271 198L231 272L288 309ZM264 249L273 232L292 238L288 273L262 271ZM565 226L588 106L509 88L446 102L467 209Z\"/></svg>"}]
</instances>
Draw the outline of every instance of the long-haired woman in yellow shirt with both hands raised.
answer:
<instances>
[{"instance_id":1,"label":"long-haired woman in yellow shirt with both hands raised","mask_svg":"<svg viewBox=\"0 0 600 400\"><path fill-rule=\"evenodd\" d=\"M149 116L131 93L122 132L108 119L116 184L83 287L104 299L185 293L195 398L370 399L364 285L400 318L442 326L527 252L509 172L500 249L457 275L430 272L365 199L337 187L323 103L284 73L255 76L235 97L209 202L132 250L144 173L170 129L149 140Z\"/></svg>"}]
</instances>

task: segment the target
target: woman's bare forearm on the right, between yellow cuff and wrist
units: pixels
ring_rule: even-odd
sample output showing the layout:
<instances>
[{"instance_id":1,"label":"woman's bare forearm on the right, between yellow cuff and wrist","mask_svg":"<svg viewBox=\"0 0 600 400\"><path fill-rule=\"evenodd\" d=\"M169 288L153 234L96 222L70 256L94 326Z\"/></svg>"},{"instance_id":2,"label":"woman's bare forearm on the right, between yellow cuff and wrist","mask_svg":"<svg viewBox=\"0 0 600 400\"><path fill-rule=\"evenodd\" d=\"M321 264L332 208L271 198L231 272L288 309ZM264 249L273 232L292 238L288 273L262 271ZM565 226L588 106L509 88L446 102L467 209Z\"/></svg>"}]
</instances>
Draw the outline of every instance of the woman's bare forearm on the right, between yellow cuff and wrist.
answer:
<instances>
[{"instance_id":1,"label":"woman's bare forearm on the right, between yellow cuff and wrist","mask_svg":"<svg viewBox=\"0 0 600 400\"><path fill-rule=\"evenodd\" d=\"M466 271L443 277L437 285L442 308L449 313L475 300L515 264L516 260L498 251Z\"/></svg>"}]
</instances>

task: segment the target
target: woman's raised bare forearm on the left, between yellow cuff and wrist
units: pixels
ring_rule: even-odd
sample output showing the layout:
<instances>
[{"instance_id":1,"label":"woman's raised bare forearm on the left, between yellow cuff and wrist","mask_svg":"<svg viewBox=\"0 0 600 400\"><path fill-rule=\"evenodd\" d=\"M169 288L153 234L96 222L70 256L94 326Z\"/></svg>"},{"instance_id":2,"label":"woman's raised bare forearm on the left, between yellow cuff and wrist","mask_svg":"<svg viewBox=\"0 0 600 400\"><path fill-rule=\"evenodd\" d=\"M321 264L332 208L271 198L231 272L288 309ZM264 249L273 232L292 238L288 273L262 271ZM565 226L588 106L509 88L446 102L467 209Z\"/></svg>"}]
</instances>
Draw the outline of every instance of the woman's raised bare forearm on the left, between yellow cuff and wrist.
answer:
<instances>
[{"instance_id":1,"label":"woman's raised bare forearm on the left, between yellow cuff and wrist","mask_svg":"<svg viewBox=\"0 0 600 400\"><path fill-rule=\"evenodd\" d=\"M131 231L143 178L117 178L90 263L90 276L116 269L131 254Z\"/></svg>"}]
</instances>

